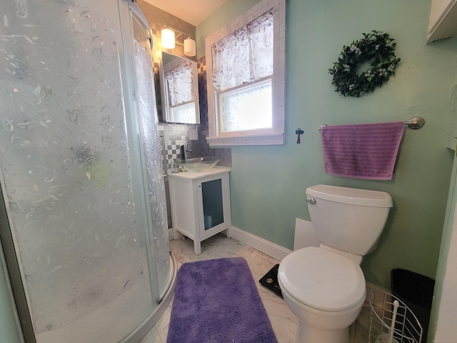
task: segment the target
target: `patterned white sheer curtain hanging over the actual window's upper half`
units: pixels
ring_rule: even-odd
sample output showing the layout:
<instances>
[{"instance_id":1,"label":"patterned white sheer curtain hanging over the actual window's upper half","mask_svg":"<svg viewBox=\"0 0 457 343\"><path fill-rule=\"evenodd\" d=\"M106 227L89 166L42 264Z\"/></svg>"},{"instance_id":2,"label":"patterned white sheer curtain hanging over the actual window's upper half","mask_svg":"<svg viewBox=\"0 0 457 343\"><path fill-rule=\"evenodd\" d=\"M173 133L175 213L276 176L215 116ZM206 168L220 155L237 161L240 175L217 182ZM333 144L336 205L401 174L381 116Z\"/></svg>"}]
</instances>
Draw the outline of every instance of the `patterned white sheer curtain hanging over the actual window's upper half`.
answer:
<instances>
[{"instance_id":1,"label":"patterned white sheer curtain hanging over the actual window's upper half","mask_svg":"<svg viewBox=\"0 0 457 343\"><path fill-rule=\"evenodd\" d=\"M273 74L273 14L268 11L211 46L213 85L224 91Z\"/></svg>"}]
</instances>

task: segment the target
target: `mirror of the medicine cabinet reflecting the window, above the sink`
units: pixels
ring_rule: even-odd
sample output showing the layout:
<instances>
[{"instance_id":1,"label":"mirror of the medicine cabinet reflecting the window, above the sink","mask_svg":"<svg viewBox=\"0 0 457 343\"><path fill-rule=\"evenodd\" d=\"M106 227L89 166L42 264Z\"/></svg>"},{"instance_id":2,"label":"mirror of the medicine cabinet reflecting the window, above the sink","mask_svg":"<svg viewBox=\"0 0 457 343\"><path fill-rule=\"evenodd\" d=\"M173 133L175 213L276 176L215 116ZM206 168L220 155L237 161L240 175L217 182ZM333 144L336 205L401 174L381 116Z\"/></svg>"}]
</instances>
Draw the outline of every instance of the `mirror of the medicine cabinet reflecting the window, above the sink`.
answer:
<instances>
[{"instance_id":1,"label":"mirror of the medicine cabinet reflecting the window, above the sink","mask_svg":"<svg viewBox=\"0 0 457 343\"><path fill-rule=\"evenodd\" d=\"M162 51L159 74L164 121L200 124L196 61Z\"/></svg>"}]
</instances>

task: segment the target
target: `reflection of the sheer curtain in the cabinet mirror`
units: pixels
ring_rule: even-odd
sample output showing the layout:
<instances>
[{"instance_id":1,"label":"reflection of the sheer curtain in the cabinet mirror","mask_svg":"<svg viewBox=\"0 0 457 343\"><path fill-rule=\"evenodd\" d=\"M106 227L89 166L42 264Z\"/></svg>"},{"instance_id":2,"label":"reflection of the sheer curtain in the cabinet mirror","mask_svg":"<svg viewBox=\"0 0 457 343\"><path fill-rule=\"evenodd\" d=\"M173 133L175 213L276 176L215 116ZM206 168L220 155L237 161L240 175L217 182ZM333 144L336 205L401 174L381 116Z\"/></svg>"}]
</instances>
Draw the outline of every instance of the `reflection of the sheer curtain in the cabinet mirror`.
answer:
<instances>
[{"instance_id":1,"label":"reflection of the sheer curtain in the cabinet mirror","mask_svg":"<svg viewBox=\"0 0 457 343\"><path fill-rule=\"evenodd\" d=\"M179 64L179 66L174 67L174 69L167 71L164 76L171 106L177 106L194 100L191 61L185 61Z\"/></svg>"}]
</instances>

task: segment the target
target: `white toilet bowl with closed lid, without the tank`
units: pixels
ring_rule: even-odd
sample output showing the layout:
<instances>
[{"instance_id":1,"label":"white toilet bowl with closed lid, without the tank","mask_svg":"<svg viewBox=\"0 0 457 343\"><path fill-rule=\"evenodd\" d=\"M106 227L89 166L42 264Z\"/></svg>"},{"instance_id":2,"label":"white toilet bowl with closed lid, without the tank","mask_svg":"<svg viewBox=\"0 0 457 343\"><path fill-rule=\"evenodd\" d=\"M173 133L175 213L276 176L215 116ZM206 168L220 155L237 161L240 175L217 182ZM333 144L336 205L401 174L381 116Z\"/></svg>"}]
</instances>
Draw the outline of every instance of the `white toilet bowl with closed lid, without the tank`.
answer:
<instances>
[{"instance_id":1,"label":"white toilet bowl with closed lid, without the tank","mask_svg":"<svg viewBox=\"0 0 457 343\"><path fill-rule=\"evenodd\" d=\"M366 295L358 264L325 249L306 247L279 264L278 283L298 318L297 342L348 342L348 327Z\"/></svg>"}]
</instances>

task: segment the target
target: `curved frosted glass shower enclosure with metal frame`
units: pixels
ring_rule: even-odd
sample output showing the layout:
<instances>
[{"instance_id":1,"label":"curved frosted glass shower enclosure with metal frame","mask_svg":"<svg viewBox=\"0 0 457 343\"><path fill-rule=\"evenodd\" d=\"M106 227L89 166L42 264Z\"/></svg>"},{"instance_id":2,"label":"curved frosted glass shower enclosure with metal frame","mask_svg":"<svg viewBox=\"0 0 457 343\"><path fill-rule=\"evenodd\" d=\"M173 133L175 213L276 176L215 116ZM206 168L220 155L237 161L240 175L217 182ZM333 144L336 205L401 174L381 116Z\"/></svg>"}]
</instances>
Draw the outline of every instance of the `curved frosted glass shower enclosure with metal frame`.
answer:
<instances>
[{"instance_id":1,"label":"curved frosted glass shower enclosure with metal frame","mask_svg":"<svg viewBox=\"0 0 457 343\"><path fill-rule=\"evenodd\" d=\"M139 342L175 267L151 34L123 0L0 0L0 227L25 342Z\"/></svg>"}]
</instances>

